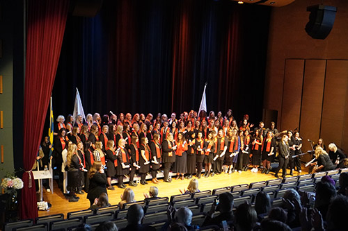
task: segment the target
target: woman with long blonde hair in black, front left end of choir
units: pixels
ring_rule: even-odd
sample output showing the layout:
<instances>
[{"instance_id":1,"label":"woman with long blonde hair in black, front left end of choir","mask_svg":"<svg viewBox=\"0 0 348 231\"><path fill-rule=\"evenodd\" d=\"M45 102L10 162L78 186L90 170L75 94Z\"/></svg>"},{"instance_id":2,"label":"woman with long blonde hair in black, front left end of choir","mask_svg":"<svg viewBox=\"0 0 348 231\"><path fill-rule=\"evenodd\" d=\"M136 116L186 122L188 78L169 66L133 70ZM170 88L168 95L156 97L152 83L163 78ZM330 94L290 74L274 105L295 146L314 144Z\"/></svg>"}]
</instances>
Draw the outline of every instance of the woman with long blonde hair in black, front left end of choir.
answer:
<instances>
[{"instance_id":1,"label":"woman with long blonde hair in black, front left end of choir","mask_svg":"<svg viewBox=\"0 0 348 231\"><path fill-rule=\"evenodd\" d=\"M70 148L71 147L71 148ZM71 144L67 153L67 164L68 167L68 191L69 193L69 202L77 202L79 198L75 195L76 192L81 190L81 173L80 169L84 169L84 166L81 165L81 158L77 155L77 146L76 144ZM82 191L79 194L84 194Z\"/></svg>"}]
</instances>

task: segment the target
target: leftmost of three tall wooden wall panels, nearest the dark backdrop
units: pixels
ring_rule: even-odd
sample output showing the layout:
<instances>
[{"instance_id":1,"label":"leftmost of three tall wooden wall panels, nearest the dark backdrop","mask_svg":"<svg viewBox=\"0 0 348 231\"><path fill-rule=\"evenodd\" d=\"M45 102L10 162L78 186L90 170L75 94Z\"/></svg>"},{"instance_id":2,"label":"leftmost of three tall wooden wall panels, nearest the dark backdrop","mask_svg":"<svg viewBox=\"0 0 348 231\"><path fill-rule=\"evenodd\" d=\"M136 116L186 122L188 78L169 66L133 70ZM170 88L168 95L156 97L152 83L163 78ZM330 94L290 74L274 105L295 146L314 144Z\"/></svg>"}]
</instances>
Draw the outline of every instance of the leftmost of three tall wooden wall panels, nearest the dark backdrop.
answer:
<instances>
[{"instance_id":1,"label":"leftmost of three tall wooden wall panels, nearest the dark backdrop","mask_svg":"<svg viewBox=\"0 0 348 231\"><path fill-rule=\"evenodd\" d=\"M286 60L280 130L299 127L304 60ZM271 91L271 89L270 89ZM278 97L273 95L272 97Z\"/></svg>"}]
</instances>

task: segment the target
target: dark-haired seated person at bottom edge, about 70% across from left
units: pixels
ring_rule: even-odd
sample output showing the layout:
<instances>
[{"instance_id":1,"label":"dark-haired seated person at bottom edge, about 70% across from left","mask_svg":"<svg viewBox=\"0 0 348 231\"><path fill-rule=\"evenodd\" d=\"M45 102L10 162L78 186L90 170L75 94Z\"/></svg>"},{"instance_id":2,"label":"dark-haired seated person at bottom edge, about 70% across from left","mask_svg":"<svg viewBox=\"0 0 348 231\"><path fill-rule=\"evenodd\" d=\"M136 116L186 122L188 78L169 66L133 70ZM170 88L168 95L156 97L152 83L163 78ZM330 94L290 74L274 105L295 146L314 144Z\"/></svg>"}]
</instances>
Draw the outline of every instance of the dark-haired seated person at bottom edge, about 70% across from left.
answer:
<instances>
[{"instance_id":1,"label":"dark-haired seated person at bottom edge, about 70% across from left","mask_svg":"<svg viewBox=\"0 0 348 231\"><path fill-rule=\"evenodd\" d=\"M258 221L258 214L248 203L243 203L237 207L235 212L235 231L251 231L255 228Z\"/></svg>"}]
</instances>

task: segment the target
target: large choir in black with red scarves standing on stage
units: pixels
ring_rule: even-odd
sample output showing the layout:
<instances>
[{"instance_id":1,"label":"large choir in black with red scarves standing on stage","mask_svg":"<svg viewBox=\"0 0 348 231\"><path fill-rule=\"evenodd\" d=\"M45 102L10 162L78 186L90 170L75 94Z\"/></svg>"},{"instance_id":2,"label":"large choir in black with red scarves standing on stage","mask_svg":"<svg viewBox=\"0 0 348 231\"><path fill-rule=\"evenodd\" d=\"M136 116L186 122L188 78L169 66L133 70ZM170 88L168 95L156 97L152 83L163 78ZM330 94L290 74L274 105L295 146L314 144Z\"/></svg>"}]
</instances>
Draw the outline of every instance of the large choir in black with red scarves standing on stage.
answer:
<instances>
[{"instance_id":1,"label":"large choir in black with red scarves standing on stage","mask_svg":"<svg viewBox=\"0 0 348 231\"><path fill-rule=\"evenodd\" d=\"M114 189L111 178L117 177L118 187L125 188L123 178L126 175L129 185L136 186L136 173L141 176L142 185L148 184L145 181L148 173L157 184L160 168L164 170L164 182L171 182L170 171L176 173L176 179L189 179L193 175L200 178L203 166L205 178L248 171L249 166L256 173L263 166L262 173L268 174L271 162L278 155L276 137L283 135L279 143L286 145L279 148L280 164L276 176L283 169L284 177L287 166L290 166L290 175L295 168L301 172L299 132L278 132L274 122L267 129L262 121L253 128L248 119L245 114L237 124L232 110L228 110L224 117L221 112L215 115L212 111L207 116L204 111L197 114L191 110L180 114L179 119L175 112L169 119L166 114L157 114L154 119L152 114L147 117L134 114L132 117L129 113L120 113L117 117L110 112L103 117L98 113L88 114L86 121L79 114L74 121L72 115L66 120L60 115L54 128L53 165L61 179L62 171L68 171L72 179L77 179L77 174L81 173L83 183L68 184L68 190L73 194L83 193L82 185L88 191L86 172L93 162L102 162L111 190ZM49 142L48 139L45 142ZM65 149L66 155L62 154Z\"/></svg>"}]
</instances>

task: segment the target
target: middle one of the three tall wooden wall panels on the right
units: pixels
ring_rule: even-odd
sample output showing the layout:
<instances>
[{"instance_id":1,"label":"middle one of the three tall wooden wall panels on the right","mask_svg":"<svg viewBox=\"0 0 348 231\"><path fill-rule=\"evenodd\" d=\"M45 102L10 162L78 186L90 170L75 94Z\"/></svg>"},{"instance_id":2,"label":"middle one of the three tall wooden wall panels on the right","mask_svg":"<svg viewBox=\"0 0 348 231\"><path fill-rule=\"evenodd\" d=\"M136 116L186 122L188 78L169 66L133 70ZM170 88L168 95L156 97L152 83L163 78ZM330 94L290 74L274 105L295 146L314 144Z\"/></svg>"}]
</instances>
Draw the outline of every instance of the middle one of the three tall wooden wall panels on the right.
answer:
<instances>
[{"instance_id":1,"label":"middle one of the three tall wooden wall panels on the right","mask_svg":"<svg viewBox=\"0 0 348 231\"><path fill-rule=\"evenodd\" d=\"M311 139L317 142L322 120L326 60L306 60L301 103L300 133L303 137L302 151L311 150ZM307 160L309 157L304 156Z\"/></svg>"}]
</instances>

